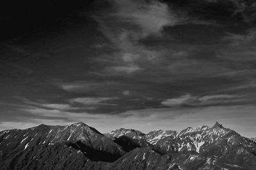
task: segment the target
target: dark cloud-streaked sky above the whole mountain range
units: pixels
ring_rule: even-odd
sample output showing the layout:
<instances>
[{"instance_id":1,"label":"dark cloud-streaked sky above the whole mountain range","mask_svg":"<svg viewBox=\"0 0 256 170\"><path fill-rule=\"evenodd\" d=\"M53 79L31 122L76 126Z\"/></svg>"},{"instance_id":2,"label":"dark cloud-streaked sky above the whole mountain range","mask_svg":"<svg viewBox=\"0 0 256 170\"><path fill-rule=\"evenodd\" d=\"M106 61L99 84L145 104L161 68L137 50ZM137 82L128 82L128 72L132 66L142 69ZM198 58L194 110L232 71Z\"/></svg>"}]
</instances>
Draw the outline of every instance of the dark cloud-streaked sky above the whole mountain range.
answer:
<instances>
[{"instance_id":1,"label":"dark cloud-streaked sky above the whole mountain range","mask_svg":"<svg viewBox=\"0 0 256 170\"><path fill-rule=\"evenodd\" d=\"M256 137L256 3L54 2L1 7L0 131L217 121Z\"/></svg>"}]
</instances>

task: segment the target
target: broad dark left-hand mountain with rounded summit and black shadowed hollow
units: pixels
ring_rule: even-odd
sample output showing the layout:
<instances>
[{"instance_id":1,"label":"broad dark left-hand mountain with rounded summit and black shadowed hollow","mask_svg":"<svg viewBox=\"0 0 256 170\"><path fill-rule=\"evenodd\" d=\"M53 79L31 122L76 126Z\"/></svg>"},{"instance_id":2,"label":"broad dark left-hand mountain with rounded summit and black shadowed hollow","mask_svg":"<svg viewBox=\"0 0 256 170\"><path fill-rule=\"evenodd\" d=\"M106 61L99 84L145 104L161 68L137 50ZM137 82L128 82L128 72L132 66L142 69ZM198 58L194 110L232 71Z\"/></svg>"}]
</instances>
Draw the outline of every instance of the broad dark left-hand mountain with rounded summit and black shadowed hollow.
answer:
<instances>
[{"instance_id":1,"label":"broad dark left-hand mountain with rounded summit and black shadowed hollow","mask_svg":"<svg viewBox=\"0 0 256 170\"><path fill-rule=\"evenodd\" d=\"M86 159L113 162L124 153L121 146L83 123L39 125L0 133L0 167L4 169L20 169L24 165L45 168L51 162L56 167L71 161L70 156L74 157L74 162L79 160L82 164ZM76 157L81 157L81 160L76 160Z\"/></svg>"}]
</instances>

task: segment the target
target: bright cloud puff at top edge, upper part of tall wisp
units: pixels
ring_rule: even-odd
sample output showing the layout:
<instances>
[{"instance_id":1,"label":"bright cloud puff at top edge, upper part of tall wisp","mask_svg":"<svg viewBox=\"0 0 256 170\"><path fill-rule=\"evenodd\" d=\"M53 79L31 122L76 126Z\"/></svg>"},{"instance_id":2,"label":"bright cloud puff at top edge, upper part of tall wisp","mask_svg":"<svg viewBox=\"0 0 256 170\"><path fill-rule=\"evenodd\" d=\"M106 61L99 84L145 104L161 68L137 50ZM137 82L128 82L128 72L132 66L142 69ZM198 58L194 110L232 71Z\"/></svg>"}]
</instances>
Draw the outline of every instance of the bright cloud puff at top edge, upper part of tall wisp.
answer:
<instances>
[{"instance_id":1,"label":"bright cloud puff at top edge, upper part of tall wisp","mask_svg":"<svg viewBox=\"0 0 256 170\"><path fill-rule=\"evenodd\" d=\"M170 13L167 4L159 1L115 0L116 15L125 22L136 24L141 28L142 35L159 34L165 25L175 25L179 22L175 14Z\"/></svg>"}]
</instances>

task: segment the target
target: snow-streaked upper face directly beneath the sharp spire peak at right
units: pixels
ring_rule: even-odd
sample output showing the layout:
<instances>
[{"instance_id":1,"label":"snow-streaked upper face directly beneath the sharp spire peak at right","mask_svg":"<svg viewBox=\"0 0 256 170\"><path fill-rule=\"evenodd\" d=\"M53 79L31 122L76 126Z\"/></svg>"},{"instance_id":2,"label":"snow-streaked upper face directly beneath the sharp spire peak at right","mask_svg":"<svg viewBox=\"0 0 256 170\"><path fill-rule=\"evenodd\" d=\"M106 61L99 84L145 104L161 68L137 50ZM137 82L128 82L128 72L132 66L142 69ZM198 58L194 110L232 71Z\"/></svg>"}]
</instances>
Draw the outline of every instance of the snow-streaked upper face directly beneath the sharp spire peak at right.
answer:
<instances>
[{"instance_id":1,"label":"snow-streaked upper face directly beneath the sharp spire peak at right","mask_svg":"<svg viewBox=\"0 0 256 170\"><path fill-rule=\"evenodd\" d=\"M194 150L195 152L199 153L202 149L202 146L204 146L205 144L211 145L211 143L216 143L226 138L228 140L230 136L234 137L234 134L239 136L239 134L237 134L236 132L227 129L223 127L223 125L216 122L216 124L211 128L204 125L196 128L188 127L178 132L161 130L152 131L147 134L146 139L149 143L154 145L160 145L166 148L166 150L174 148L174 150L176 150L177 152L181 152L182 150ZM230 140L228 141L229 143Z\"/></svg>"}]
</instances>

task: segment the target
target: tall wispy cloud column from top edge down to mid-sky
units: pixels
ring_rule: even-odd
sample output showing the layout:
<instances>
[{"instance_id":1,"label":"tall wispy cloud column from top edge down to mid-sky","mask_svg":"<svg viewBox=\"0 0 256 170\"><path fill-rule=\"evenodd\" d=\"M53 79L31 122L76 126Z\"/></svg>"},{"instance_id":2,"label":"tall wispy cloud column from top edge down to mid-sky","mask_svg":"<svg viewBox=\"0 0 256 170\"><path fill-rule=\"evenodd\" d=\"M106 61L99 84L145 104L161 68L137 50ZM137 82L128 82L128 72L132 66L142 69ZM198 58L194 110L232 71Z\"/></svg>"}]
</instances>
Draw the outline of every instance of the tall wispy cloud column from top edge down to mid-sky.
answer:
<instances>
[{"instance_id":1,"label":"tall wispy cloud column from top edge down to mid-sky","mask_svg":"<svg viewBox=\"0 0 256 170\"><path fill-rule=\"evenodd\" d=\"M167 4L159 1L112 2L115 4L113 14L95 17L100 31L118 49L118 52L98 59L99 62L106 62L106 65L114 65L105 67L101 73L140 73L144 70L143 65L160 57L163 52L147 48L139 41L152 34L161 36L164 26L179 24L180 18L172 13Z\"/></svg>"}]
</instances>

